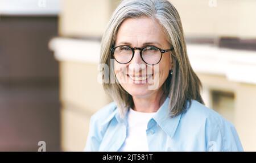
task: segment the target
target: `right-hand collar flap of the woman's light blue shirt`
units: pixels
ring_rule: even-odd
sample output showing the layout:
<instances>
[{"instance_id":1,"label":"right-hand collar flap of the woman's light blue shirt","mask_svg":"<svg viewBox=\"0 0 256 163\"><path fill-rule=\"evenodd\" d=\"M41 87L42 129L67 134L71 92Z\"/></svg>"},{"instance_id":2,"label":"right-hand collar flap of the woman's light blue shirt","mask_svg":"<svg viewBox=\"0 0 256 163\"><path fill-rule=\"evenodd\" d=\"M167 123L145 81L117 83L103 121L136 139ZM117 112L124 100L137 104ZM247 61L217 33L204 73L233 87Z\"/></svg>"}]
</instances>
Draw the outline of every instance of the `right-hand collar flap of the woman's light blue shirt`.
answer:
<instances>
[{"instance_id":1,"label":"right-hand collar flap of the woman's light blue shirt","mask_svg":"<svg viewBox=\"0 0 256 163\"><path fill-rule=\"evenodd\" d=\"M174 136L174 133L179 125L181 114L171 117L169 109L170 98L167 97L163 105L153 116L155 122L163 129L170 137Z\"/></svg>"}]
</instances>

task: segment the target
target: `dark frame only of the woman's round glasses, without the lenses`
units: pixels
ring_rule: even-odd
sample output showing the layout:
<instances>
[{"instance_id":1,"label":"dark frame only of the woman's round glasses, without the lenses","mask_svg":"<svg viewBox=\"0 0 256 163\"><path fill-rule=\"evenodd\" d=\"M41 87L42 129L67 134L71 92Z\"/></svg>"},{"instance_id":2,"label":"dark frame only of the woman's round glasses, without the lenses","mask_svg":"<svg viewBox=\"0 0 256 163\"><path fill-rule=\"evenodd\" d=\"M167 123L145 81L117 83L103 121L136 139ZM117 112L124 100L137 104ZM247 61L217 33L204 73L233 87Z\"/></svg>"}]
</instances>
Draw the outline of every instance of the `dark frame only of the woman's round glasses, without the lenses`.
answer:
<instances>
[{"instance_id":1,"label":"dark frame only of the woman's round glasses, without the lenses","mask_svg":"<svg viewBox=\"0 0 256 163\"><path fill-rule=\"evenodd\" d=\"M142 51L145 49L145 48L148 48L148 47L154 47L154 48L156 48L156 49L158 49L159 51L160 51L160 53L161 53L161 57L160 57L160 60L156 63L156 64L158 64L160 61L161 61L161 59L162 59L162 56L163 56L163 53L166 53L166 52L170 52L170 51L172 51L173 49L174 49L174 47L172 46L171 47L171 49L161 49L161 48L158 48L158 47L156 47L156 46L154 46L154 45L146 45L146 46L144 46L144 47L142 47L142 48L138 48L138 47L131 47L131 46L129 46L129 45L119 45L119 46L117 46L117 47L112 47L111 49L110 49L110 52L111 52L111 55L114 57L114 59L115 59L115 56L114 56L114 51L115 51L115 49L116 48L118 48L118 47L129 47L129 48L131 48L131 51L133 52L133 56L131 57L131 60L133 60L133 57L134 57L134 54L135 54L135 50L139 50L139 54L140 54L140 56L141 56L141 59L143 60L143 57L142 57ZM172 55L172 54L171 54ZM173 56L173 55L172 55ZM130 61L131 61L130 60ZM115 61L117 61L117 59L115 59ZM119 64L128 64L130 61L128 61L128 62L126 62L126 63L122 63L122 62L118 62ZM156 64L148 64L146 61L144 61L143 60L143 62L145 62L147 65L156 65Z\"/></svg>"}]
</instances>

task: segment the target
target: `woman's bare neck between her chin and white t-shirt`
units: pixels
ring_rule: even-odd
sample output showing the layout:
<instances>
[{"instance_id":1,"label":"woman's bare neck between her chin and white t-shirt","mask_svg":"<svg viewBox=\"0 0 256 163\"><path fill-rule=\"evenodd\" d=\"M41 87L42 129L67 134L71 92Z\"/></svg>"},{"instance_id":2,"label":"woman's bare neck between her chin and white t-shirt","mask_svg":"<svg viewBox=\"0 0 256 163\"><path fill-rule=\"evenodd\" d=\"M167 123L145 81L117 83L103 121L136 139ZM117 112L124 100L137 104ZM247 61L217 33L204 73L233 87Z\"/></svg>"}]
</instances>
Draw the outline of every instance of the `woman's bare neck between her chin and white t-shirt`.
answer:
<instances>
[{"instance_id":1,"label":"woman's bare neck between her chin and white t-shirt","mask_svg":"<svg viewBox=\"0 0 256 163\"><path fill-rule=\"evenodd\" d=\"M139 112L156 112L164 102L164 99L161 99L161 97L162 91L158 91L147 97L133 97L133 110Z\"/></svg>"}]
</instances>

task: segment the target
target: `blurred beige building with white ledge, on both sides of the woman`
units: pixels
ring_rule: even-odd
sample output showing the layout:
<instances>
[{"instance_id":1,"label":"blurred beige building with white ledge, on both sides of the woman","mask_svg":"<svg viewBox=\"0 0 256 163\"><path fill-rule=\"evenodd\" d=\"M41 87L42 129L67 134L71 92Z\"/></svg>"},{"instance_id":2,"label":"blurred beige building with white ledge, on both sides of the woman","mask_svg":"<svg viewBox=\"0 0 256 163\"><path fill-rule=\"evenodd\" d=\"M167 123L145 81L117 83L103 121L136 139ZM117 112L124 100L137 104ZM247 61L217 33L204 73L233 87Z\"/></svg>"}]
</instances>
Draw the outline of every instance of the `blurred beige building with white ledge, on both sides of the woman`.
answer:
<instances>
[{"instance_id":1,"label":"blurred beige building with white ledge, on both sides of the woman","mask_svg":"<svg viewBox=\"0 0 256 163\"><path fill-rule=\"evenodd\" d=\"M206 105L230 120L245 151L256 151L256 1L171 1ZM119 1L64 0L49 47L60 63L61 148L82 151L90 116L111 100L98 83L100 39Z\"/></svg>"}]
</instances>

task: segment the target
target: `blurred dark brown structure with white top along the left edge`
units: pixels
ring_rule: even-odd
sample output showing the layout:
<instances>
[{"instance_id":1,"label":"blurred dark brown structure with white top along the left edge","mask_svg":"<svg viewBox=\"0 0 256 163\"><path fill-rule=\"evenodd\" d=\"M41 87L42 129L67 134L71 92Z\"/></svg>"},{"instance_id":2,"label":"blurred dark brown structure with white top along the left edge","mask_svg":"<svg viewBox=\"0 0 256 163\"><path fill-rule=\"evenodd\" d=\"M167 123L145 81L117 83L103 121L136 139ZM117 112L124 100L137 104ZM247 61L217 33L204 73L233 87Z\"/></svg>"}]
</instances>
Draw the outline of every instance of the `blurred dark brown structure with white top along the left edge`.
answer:
<instances>
[{"instance_id":1,"label":"blurred dark brown structure with white top along the left edge","mask_svg":"<svg viewBox=\"0 0 256 163\"><path fill-rule=\"evenodd\" d=\"M0 151L60 151L57 4L0 0Z\"/></svg>"}]
</instances>

